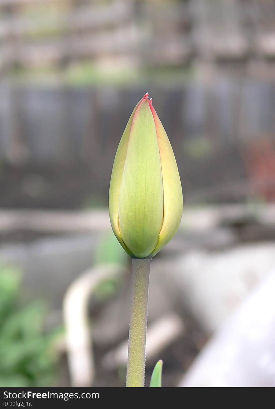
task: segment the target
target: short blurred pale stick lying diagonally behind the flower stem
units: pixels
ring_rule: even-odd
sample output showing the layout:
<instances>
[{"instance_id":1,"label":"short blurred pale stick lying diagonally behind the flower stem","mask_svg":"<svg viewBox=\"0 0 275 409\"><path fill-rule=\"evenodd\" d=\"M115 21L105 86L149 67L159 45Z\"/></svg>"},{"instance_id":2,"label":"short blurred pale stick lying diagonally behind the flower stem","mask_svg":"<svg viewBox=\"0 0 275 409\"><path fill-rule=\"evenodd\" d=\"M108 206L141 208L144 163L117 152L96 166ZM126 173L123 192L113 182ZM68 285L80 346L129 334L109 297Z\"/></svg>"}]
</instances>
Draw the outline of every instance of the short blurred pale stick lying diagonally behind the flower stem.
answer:
<instances>
[{"instance_id":1,"label":"short blurred pale stick lying diagonally behind the flower stem","mask_svg":"<svg viewBox=\"0 0 275 409\"><path fill-rule=\"evenodd\" d=\"M146 360L155 357L184 331L181 318L176 314L167 314L148 326L146 335ZM112 370L120 365L126 365L128 355L128 340L108 352L102 365Z\"/></svg>"}]
</instances>

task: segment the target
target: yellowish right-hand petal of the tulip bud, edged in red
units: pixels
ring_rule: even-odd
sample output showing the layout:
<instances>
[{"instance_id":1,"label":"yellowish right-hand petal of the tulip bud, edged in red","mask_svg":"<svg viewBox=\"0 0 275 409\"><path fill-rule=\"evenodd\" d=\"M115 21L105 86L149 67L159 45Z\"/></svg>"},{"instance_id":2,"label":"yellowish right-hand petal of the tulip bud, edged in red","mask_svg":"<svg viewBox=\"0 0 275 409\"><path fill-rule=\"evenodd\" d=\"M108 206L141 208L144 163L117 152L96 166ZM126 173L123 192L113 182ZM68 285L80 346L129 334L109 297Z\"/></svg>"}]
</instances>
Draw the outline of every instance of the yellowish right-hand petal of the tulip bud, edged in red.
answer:
<instances>
[{"instance_id":1,"label":"yellowish right-hand petal of the tulip bud, edged in red","mask_svg":"<svg viewBox=\"0 0 275 409\"><path fill-rule=\"evenodd\" d=\"M152 256L154 256L177 233L181 222L183 197L181 180L172 146L151 101L150 108L157 131L163 180L163 225L159 233L159 242L152 252Z\"/></svg>"}]
</instances>

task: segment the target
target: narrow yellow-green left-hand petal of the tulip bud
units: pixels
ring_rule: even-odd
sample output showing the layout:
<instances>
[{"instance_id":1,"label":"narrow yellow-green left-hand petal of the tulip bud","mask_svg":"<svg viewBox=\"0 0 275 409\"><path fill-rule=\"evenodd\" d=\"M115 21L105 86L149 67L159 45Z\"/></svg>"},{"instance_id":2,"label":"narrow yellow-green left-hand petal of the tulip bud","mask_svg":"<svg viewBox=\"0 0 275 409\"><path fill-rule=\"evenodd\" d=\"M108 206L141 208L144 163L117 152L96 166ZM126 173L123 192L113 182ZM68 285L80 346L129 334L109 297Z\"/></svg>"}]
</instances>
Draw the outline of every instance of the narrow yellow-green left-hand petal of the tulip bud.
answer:
<instances>
[{"instance_id":1,"label":"narrow yellow-green left-hand petal of the tulip bud","mask_svg":"<svg viewBox=\"0 0 275 409\"><path fill-rule=\"evenodd\" d=\"M128 146L128 141L130 137L130 130L132 126L132 120L136 112L136 108L139 106L139 104L144 98L145 96L139 101L139 103L136 104L132 112L132 115L129 118L129 121L127 122L126 128L121 137L121 140L119 142L119 145L116 151L116 156L114 158L114 164L113 164L111 181L110 181L110 191L109 191L109 215L110 215L111 226L112 226L114 234L116 238L118 239L119 243L122 245L123 249L130 255L132 255L132 253L129 251L129 249L127 249L127 247L123 243L123 240L121 238L121 233L119 231L119 223L118 223L119 193L120 193L121 179L122 179L122 174L123 174L123 169L124 169L124 164L125 164L125 159L126 159L127 146Z\"/></svg>"}]
</instances>

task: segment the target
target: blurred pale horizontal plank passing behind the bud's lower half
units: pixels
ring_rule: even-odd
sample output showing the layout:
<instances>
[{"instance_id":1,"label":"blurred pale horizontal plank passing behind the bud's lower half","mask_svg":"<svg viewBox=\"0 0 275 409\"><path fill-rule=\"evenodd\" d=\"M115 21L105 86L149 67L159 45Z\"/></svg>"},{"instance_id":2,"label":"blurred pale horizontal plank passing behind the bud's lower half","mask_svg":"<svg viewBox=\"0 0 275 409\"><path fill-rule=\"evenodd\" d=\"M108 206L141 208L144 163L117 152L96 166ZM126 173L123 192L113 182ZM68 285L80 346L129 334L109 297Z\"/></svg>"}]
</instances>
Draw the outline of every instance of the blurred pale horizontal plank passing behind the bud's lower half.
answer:
<instances>
[{"instance_id":1,"label":"blurred pale horizontal plank passing behind the bud's lower half","mask_svg":"<svg viewBox=\"0 0 275 409\"><path fill-rule=\"evenodd\" d=\"M220 205L202 208L185 207L181 220L184 229L207 230L222 223L254 220L275 225L275 205ZM47 233L110 230L108 211L0 210L0 232L33 230Z\"/></svg>"}]
</instances>

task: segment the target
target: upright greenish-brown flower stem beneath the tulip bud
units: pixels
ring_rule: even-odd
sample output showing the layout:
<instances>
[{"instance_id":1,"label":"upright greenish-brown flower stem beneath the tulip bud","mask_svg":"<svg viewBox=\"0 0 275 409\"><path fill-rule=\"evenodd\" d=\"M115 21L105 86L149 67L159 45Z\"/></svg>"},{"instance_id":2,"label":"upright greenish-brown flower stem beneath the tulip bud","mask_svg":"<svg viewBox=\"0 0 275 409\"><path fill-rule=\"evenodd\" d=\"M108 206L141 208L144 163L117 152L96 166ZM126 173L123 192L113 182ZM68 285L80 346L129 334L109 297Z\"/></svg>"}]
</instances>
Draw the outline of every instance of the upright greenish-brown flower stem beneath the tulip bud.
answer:
<instances>
[{"instance_id":1,"label":"upright greenish-brown flower stem beneath the tulip bud","mask_svg":"<svg viewBox=\"0 0 275 409\"><path fill-rule=\"evenodd\" d=\"M132 314L130 321L126 387L144 387L150 258L132 258Z\"/></svg>"}]
</instances>

